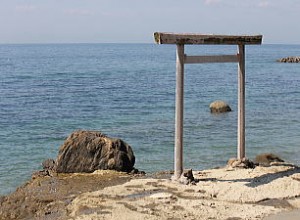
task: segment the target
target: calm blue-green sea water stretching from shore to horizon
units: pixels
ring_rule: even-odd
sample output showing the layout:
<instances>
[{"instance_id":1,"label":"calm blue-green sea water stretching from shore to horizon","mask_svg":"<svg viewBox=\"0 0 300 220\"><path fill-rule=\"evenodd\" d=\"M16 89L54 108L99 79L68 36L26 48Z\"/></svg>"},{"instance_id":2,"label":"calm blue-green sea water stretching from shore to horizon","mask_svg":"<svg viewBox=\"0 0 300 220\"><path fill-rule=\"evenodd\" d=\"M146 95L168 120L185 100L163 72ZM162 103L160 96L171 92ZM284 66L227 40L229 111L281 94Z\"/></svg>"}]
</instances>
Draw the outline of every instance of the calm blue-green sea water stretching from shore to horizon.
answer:
<instances>
[{"instance_id":1,"label":"calm blue-green sea water stretching from shore to horizon","mask_svg":"<svg viewBox=\"0 0 300 220\"><path fill-rule=\"evenodd\" d=\"M30 178L78 129L129 143L136 168L173 169L175 46L0 45L0 194ZM187 47L189 55L235 46ZM300 164L300 45L246 47L246 154ZM211 115L227 101L233 112ZM237 64L186 65L184 165L204 169L236 156Z\"/></svg>"}]
</instances>

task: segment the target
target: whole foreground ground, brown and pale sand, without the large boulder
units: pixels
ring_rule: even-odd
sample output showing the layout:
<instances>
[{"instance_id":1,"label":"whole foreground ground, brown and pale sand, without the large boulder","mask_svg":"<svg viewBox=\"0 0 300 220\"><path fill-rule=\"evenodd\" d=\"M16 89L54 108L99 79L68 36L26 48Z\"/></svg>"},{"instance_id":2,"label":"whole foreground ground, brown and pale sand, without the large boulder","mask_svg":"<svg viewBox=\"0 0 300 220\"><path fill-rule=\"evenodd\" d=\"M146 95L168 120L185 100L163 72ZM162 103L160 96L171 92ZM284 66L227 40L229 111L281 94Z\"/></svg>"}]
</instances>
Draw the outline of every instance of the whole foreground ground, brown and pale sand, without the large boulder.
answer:
<instances>
[{"instance_id":1,"label":"whole foreground ground, brown and pale sand, without the large boulder","mask_svg":"<svg viewBox=\"0 0 300 220\"><path fill-rule=\"evenodd\" d=\"M0 200L0 219L10 219L8 212L17 210L10 217L292 220L299 214L300 168L291 164L254 169L226 166L193 171L193 175L196 181L187 185L166 178L169 174L150 177L115 171L36 178ZM22 204L16 202L21 201L20 195ZM37 200L42 203L26 210L30 201Z\"/></svg>"}]
</instances>

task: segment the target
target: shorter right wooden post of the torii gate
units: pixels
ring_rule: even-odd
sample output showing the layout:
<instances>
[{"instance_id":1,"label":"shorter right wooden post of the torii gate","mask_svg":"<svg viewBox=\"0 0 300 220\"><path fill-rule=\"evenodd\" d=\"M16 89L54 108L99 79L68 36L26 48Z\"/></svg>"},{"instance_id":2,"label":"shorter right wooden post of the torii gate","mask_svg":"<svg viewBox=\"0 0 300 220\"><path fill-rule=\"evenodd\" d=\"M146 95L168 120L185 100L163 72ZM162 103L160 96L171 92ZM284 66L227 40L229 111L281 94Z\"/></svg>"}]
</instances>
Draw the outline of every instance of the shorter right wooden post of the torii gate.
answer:
<instances>
[{"instance_id":1,"label":"shorter right wooden post of the torii gate","mask_svg":"<svg viewBox=\"0 0 300 220\"><path fill-rule=\"evenodd\" d=\"M245 45L238 45L238 159L245 157Z\"/></svg>"}]
</instances>

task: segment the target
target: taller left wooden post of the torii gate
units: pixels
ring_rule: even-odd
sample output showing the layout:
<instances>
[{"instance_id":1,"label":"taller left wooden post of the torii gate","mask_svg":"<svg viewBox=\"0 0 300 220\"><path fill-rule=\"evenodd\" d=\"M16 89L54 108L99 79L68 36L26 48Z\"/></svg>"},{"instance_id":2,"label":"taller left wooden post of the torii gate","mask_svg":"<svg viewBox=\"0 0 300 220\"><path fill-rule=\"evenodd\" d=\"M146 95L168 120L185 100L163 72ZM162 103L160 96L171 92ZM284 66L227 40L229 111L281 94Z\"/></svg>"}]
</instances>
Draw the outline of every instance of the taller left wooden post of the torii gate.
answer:
<instances>
[{"instance_id":1,"label":"taller left wooden post of the torii gate","mask_svg":"<svg viewBox=\"0 0 300 220\"><path fill-rule=\"evenodd\" d=\"M176 51L176 109L174 177L179 179L183 172L183 97L184 97L184 45L177 44Z\"/></svg>"}]
</instances>

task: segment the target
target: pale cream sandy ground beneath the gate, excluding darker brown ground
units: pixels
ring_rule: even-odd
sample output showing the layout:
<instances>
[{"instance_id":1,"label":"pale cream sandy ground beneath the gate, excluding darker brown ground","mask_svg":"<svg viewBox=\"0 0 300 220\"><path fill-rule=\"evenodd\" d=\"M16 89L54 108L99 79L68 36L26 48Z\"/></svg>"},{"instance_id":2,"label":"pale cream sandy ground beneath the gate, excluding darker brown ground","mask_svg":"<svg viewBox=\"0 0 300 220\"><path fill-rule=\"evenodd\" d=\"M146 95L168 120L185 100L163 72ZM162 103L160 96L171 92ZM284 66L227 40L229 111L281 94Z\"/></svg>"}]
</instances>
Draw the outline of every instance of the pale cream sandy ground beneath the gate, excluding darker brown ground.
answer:
<instances>
[{"instance_id":1,"label":"pale cream sandy ground beneath the gate, excluding darker brown ground","mask_svg":"<svg viewBox=\"0 0 300 220\"><path fill-rule=\"evenodd\" d=\"M193 172L195 185L133 179L79 195L74 219L263 219L300 208L300 169L281 164L255 169ZM300 219L300 218L299 218Z\"/></svg>"}]
</instances>

